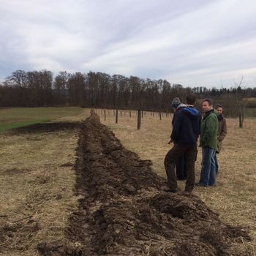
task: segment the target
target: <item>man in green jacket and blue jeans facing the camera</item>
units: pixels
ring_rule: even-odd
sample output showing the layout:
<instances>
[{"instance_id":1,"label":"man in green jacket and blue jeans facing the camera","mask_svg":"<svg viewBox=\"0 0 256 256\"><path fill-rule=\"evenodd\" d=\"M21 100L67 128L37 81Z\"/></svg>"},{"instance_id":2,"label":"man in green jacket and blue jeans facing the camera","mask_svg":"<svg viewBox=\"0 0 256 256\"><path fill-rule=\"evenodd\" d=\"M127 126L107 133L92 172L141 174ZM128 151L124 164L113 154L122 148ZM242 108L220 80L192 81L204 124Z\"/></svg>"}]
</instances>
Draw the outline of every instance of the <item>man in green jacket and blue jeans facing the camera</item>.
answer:
<instances>
[{"instance_id":1,"label":"man in green jacket and blue jeans facing the camera","mask_svg":"<svg viewBox=\"0 0 256 256\"><path fill-rule=\"evenodd\" d=\"M202 147L202 169L199 186L208 187L216 184L215 154L217 150L218 117L211 99L203 99L203 121L201 125L200 146Z\"/></svg>"}]
</instances>

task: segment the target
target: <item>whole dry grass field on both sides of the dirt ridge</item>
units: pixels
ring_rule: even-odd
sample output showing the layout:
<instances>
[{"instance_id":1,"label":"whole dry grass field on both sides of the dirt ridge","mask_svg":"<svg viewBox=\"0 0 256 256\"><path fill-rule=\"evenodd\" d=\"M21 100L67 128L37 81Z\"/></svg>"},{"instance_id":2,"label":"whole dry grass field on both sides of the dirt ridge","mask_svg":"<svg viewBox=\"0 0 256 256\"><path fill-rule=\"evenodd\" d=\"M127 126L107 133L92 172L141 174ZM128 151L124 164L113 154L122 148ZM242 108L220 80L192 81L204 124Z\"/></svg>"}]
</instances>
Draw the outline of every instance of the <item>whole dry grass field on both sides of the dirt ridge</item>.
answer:
<instances>
[{"instance_id":1,"label":"whole dry grass field on both sides of the dirt ridge","mask_svg":"<svg viewBox=\"0 0 256 256\"><path fill-rule=\"evenodd\" d=\"M54 113L59 118L52 115L50 119L80 121L89 116L87 109L59 110L60 113ZM40 110L37 115L42 112ZM151 113L146 113L141 129L137 130L135 112L129 117L129 112L122 111L118 124L115 124L113 110L107 110L106 121L102 110L97 110L97 113L102 124L108 125L124 146L142 159L151 159L154 171L165 177L163 159L170 148L167 140L172 116L164 115L159 121L157 114L151 116ZM256 118L245 119L244 129L238 128L238 120L227 119L228 135L219 155L217 187L199 187L193 191L210 208L219 212L223 222L249 227L254 240L241 246L246 246L252 253L256 252L255 126ZM24 134L1 132L0 238L4 228L15 231L1 244L0 255L37 255L39 241L64 239L69 214L78 205L78 197L74 195L73 169L77 143L78 130ZM197 180L200 160L199 148ZM183 181L178 181L178 185L184 188ZM24 230L23 227L31 228Z\"/></svg>"}]
</instances>

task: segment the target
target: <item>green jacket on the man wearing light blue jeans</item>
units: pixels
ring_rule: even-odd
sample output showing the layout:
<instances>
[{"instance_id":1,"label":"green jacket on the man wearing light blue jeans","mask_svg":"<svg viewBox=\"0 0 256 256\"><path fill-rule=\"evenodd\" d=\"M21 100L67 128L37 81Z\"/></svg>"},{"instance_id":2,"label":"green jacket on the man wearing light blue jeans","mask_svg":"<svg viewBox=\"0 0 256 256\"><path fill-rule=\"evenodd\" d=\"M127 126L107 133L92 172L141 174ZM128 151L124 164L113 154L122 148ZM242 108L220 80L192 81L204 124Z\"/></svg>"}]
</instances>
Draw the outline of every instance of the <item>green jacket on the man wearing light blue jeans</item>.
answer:
<instances>
[{"instance_id":1,"label":"green jacket on the man wearing light blue jeans","mask_svg":"<svg viewBox=\"0 0 256 256\"><path fill-rule=\"evenodd\" d=\"M219 121L216 110L208 111L201 124L200 146L217 150Z\"/></svg>"}]
</instances>

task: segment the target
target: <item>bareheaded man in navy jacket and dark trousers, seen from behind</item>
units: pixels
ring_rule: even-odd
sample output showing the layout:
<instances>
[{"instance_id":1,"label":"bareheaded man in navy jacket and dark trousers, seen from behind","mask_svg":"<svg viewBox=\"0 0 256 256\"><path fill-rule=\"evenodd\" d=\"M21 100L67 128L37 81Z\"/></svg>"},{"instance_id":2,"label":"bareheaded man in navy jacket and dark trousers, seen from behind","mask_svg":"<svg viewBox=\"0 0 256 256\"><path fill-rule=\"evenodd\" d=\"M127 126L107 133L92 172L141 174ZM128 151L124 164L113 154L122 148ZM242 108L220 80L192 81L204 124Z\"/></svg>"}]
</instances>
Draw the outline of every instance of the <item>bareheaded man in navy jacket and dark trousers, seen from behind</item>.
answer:
<instances>
[{"instance_id":1,"label":"bareheaded man in navy jacket and dark trousers, seen from behind","mask_svg":"<svg viewBox=\"0 0 256 256\"><path fill-rule=\"evenodd\" d=\"M185 191L192 192L195 186L195 160L197 157L197 138L200 135L201 116L194 108L195 94L189 94L187 106L178 108L173 116L173 131L169 143L173 148L165 156L165 171L169 189L166 192L177 192L178 184L175 175L175 162L182 154L187 158L187 181Z\"/></svg>"}]
</instances>

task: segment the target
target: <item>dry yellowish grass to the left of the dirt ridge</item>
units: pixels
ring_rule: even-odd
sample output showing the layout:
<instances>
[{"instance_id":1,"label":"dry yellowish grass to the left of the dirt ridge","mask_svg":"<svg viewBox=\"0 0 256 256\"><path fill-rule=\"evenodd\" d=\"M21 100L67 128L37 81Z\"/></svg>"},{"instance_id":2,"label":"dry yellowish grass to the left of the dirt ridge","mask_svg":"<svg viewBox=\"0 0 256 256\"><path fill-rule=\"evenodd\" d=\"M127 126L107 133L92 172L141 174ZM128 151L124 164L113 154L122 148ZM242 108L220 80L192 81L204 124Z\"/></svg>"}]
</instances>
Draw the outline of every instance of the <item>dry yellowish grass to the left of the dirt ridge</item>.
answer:
<instances>
[{"instance_id":1,"label":"dry yellowish grass to the left of the dirt ridge","mask_svg":"<svg viewBox=\"0 0 256 256\"><path fill-rule=\"evenodd\" d=\"M58 121L86 116L89 110ZM0 255L37 255L39 242L64 238L69 214L78 205L77 146L74 130L0 134L0 227L17 227L0 244Z\"/></svg>"}]
</instances>

